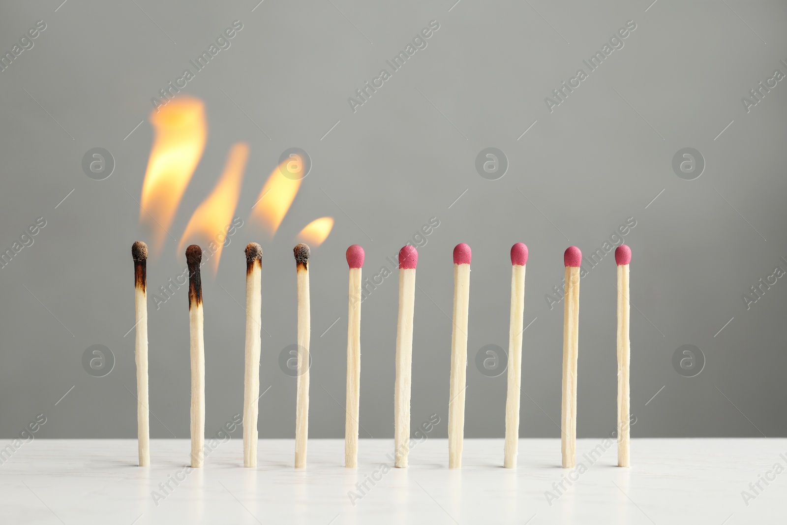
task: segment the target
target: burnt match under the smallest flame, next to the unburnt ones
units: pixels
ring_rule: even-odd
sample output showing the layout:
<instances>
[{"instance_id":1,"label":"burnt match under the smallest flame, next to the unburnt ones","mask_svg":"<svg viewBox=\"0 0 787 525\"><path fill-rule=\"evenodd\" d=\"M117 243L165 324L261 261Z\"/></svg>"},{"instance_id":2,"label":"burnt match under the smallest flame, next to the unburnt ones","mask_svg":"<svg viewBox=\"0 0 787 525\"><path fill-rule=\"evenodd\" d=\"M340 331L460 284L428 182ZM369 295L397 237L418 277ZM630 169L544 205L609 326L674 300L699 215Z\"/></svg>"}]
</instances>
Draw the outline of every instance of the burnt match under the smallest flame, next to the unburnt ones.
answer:
<instances>
[{"instance_id":1,"label":"burnt match under the smallest flame, next to the unburnt ones","mask_svg":"<svg viewBox=\"0 0 787 525\"><path fill-rule=\"evenodd\" d=\"M297 401L295 407L295 468L306 468L309 438L309 246L294 247L297 272Z\"/></svg>"}]
</instances>

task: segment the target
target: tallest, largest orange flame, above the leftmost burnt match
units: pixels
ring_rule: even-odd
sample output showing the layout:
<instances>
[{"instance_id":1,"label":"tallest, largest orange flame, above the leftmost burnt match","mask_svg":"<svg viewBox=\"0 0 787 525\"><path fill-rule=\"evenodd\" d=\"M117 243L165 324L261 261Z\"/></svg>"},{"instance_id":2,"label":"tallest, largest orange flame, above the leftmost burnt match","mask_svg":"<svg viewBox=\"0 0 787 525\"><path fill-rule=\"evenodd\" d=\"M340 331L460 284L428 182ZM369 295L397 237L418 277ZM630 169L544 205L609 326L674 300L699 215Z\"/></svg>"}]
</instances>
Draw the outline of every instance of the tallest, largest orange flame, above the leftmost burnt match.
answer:
<instances>
[{"instance_id":1,"label":"tallest, largest orange flame, above the leftmost burnt match","mask_svg":"<svg viewBox=\"0 0 787 525\"><path fill-rule=\"evenodd\" d=\"M161 248L205 149L205 105L199 98L181 95L150 113L150 123L154 139L142 183L139 222L150 227L153 246Z\"/></svg>"}]
</instances>

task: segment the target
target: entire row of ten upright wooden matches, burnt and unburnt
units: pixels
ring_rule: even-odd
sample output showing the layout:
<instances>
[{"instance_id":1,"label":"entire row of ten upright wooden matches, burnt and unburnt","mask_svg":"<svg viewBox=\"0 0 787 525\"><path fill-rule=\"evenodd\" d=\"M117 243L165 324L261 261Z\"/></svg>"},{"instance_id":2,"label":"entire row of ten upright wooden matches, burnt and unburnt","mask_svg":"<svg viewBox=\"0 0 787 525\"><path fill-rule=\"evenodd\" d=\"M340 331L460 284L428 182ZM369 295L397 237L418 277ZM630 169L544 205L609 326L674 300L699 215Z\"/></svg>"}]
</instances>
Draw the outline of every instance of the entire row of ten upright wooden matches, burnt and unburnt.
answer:
<instances>
[{"instance_id":1,"label":"entire row of ten upright wooden matches, burnt and unburnt","mask_svg":"<svg viewBox=\"0 0 787 525\"><path fill-rule=\"evenodd\" d=\"M295 416L295 468L306 466L309 436L309 246L294 248L297 288L297 401ZM137 424L139 465L150 464L147 359L147 246L131 247L135 264L135 310L137 364ZM525 304L527 246L511 248L511 317L508 336L508 389L505 405L505 468L515 468L519 443L519 392L522 371L522 334ZM189 327L191 357L191 467L203 466L205 446L205 345L203 342L202 250L186 250L189 268ZM358 417L360 409L360 296L364 249L357 244L346 253L349 264L349 309L347 326L347 405L345 420L345 467L357 467ZM470 246L453 249L453 333L451 336L451 379L449 391L449 468L461 468L464 441L464 392L467 369L467 315L470 301ZM256 242L246 246L246 372L243 402L243 466L257 466L257 400L260 394L260 310L262 249ZM618 466L629 466L629 264L631 250L615 249L617 272L617 357L618 357ZM582 252L569 247L563 254L566 268L563 309L563 400L561 404L561 453L563 468L573 468L576 457L577 357L579 327L579 279ZM405 246L399 251L399 312L394 385L394 466L406 468L410 446L410 381L412 372L412 321L416 298L418 251Z\"/></svg>"}]
</instances>

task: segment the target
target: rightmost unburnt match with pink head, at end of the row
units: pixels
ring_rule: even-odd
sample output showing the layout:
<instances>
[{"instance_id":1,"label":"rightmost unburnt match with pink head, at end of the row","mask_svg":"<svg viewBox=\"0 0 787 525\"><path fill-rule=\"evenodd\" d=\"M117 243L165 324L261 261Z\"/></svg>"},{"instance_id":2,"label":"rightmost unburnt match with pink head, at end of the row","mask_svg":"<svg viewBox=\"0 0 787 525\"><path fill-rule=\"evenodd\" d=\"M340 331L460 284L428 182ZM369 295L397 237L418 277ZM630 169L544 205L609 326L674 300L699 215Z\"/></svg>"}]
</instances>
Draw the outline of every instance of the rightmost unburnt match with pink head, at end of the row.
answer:
<instances>
[{"instance_id":1,"label":"rightmost unburnt match with pink head, at end of the row","mask_svg":"<svg viewBox=\"0 0 787 525\"><path fill-rule=\"evenodd\" d=\"M631 249L622 244L615 249L618 263L618 466L630 466L630 409L629 409L629 263Z\"/></svg>"}]
</instances>

